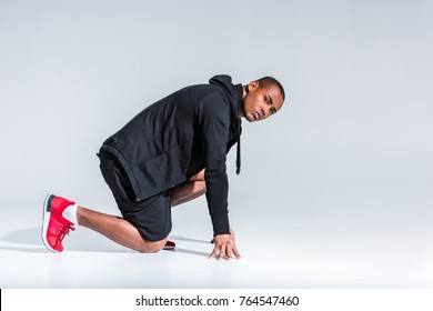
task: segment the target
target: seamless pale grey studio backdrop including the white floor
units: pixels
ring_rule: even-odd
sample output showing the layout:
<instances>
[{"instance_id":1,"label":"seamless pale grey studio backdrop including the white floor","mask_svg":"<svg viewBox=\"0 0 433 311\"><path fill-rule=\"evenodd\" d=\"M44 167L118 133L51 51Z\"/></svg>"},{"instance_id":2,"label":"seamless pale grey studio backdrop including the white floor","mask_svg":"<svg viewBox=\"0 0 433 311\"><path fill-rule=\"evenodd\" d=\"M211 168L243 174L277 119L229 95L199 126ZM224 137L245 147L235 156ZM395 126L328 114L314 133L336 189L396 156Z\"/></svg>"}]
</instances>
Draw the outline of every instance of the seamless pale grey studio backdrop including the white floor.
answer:
<instances>
[{"instance_id":1,"label":"seamless pale grey studio backdrop including the white floor","mask_svg":"<svg viewBox=\"0 0 433 311\"><path fill-rule=\"evenodd\" d=\"M0 285L432 288L432 13L421 0L0 1ZM177 252L87 229L46 252L44 195L118 213L102 141L218 73L274 76L288 93L274 118L243 122L240 177L229 156L243 259L204 261L203 199L173 211Z\"/></svg>"}]
</instances>

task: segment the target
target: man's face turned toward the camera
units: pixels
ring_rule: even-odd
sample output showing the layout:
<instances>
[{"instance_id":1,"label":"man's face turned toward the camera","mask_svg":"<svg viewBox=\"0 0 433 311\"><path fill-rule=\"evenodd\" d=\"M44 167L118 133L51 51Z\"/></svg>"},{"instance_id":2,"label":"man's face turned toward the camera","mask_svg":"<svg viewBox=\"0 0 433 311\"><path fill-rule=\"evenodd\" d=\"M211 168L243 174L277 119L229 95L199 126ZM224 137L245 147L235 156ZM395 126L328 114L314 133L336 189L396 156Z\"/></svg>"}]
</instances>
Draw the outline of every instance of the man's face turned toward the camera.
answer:
<instances>
[{"instance_id":1,"label":"man's face turned toward the camera","mask_svg":"<svg viewBox=\"0 0 433 311\"><path fill-rule=\"evenodd\" d=\"M274 84L261 88L254 81L248 84L246 88L248 92L243 97L241 117L244 117L249 122L264 120L275 114L283 106L280 89Z\"/></svg>"}]
</instances>

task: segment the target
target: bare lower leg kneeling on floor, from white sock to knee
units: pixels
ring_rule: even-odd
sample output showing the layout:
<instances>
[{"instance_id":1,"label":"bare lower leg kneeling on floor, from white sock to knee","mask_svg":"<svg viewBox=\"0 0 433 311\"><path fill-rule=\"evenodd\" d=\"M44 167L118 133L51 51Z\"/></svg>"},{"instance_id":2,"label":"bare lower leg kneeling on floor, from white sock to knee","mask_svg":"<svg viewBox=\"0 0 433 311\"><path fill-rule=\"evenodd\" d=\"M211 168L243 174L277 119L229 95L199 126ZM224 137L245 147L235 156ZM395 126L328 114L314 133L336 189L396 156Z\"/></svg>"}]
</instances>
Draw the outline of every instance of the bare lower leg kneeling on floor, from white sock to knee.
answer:
<instances>
[{"instance_id":1,"label":"bare lower leg kneeling on floor, from white sock to knee","mask_svg":"<svg viewBox=\"0 0 433 311\"><path fill-rule=\"evenodd\" d=\"M139 231L122 218L92 211L82 207L77 209L78 224L92 229L110 240L139 252L158 252L167 242L143 240Z\"/></svg>"}]
</instances>

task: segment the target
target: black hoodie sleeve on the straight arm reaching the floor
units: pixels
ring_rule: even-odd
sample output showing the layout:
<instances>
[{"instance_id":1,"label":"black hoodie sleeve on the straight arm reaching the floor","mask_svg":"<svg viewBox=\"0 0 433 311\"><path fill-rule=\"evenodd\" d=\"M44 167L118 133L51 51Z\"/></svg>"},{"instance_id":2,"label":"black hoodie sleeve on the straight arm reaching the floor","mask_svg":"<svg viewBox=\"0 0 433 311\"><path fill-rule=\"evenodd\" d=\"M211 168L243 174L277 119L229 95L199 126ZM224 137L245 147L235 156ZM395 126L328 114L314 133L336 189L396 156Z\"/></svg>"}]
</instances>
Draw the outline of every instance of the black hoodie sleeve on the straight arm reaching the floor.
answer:
<instances>
[{"instance_id":1,"label":"black hoodie sleeve on the straight arm reaching the floor","mask_svg":"<svg viewBox=\"0 0 433 311\"><path fill-rule=\"evenodd\" d=\"M212 93L199 104L199 127L204 159L207 200L213 233L230 233L225 171L226 141L230 128L230 103L222 93Z\"/></svg>"}]
</instances>

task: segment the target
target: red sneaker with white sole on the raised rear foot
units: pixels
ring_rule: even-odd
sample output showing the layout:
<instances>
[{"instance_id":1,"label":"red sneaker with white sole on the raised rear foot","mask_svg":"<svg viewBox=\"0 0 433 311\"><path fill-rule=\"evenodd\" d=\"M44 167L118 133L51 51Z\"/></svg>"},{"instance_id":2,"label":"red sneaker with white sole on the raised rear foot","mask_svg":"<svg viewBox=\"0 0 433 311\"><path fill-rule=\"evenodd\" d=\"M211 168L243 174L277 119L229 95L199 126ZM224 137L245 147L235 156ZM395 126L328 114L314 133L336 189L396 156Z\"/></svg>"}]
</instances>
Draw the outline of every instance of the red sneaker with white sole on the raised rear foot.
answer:
<instances>
[{"instance_id":1,"label":"red sneaker with white sole on the raised rear foot","mask_svg":"<svg viewBox=\"0 0 433 311\"><path fill-rule=\"evenodd\" d=\"M53 194L48 194L43 202L42 240L52 252L61 252L63 238L69 230L75 230L73 223L62 215L63 211L74 203Z\"/></svg>"}]
</instances>

